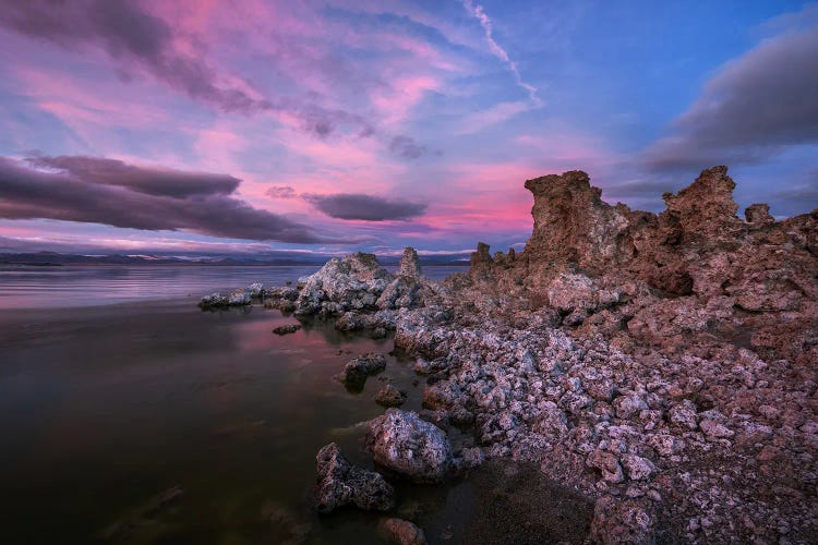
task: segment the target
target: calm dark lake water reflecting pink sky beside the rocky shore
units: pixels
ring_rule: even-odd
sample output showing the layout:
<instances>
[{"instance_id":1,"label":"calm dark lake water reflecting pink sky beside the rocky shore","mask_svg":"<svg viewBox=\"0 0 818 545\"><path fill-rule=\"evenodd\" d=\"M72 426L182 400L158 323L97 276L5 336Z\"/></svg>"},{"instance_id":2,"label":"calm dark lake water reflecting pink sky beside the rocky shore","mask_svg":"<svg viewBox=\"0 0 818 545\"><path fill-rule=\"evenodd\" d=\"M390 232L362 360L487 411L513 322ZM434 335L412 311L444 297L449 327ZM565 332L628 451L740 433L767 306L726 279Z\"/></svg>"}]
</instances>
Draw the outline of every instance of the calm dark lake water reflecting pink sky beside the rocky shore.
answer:
<instances>
[{"instance_id":1,"label":"calm dark lake water reflecting pink sky beside the rocky shore","mask_svg":"<svg viewBox=\"0 0 818 545\"><path fill-rule=\"evenodd\" d=\"M372 398L384 380L420 408L411 361L389 355L358 393L332 378L392 340L325 324L278 337L292 322L278 311L201 312L193 296L87 306L130 299L129 282L199 296L306 268L73 269L0 288L13 302L0 310L0 543L380 542L378 514L318 517L310 493L329 441L371 467L358 424L383 412ZM588 505L534 482L493 465L446 486L398 482L398 509L433 543L576 541Z\"/></svg>"}]
</instances>

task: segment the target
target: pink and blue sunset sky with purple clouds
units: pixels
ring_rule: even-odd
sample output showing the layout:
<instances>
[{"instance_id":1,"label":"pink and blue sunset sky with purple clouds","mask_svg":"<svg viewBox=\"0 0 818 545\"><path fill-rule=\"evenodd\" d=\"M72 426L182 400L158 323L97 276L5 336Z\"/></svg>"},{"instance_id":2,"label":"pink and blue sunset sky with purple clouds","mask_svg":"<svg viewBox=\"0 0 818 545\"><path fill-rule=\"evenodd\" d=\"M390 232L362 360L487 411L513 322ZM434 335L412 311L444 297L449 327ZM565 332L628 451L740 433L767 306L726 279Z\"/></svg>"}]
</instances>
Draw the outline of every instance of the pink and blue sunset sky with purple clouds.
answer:
<instances>
[{"instance_id":1,"label":"pink and blue sunset sky with purple clouds","mask_svg":"<svg viewBox=\"0 0 818 545\"><path fill-rule=\"evenodd\" d=\"M0 252L520 249L727 165L818 207L818 2L0 0Z\"/></svg>"}]
</instances>

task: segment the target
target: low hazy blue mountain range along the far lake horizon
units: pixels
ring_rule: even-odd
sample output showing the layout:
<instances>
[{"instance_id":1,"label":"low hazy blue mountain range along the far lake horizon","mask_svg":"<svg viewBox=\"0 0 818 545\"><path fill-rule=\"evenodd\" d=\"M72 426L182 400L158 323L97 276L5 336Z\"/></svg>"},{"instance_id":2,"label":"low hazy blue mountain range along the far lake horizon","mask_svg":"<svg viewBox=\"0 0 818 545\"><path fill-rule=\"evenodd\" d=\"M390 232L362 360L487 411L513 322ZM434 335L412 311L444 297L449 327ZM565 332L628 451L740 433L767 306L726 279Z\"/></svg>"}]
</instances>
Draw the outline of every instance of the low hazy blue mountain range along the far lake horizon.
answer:
<instances>
[{"instance_id":1,"label":"low hazy blue mountain range along the far lake horizon","mask_svg":"<svg viewBox=\"0 0 818 545\"><path fill-rule=\"evenodd\" d=\"M258 257L173 257L157 255L79 255L57 252L0 253L0 265L67 266L67 265L179 265L179 266L275 266L275 265L323 265L332 255L272 255ZM421 256L422 265L465 265L464 254ZM397 256L378 256L383 265L397 265Z\"/></svg>"}]
</instances>

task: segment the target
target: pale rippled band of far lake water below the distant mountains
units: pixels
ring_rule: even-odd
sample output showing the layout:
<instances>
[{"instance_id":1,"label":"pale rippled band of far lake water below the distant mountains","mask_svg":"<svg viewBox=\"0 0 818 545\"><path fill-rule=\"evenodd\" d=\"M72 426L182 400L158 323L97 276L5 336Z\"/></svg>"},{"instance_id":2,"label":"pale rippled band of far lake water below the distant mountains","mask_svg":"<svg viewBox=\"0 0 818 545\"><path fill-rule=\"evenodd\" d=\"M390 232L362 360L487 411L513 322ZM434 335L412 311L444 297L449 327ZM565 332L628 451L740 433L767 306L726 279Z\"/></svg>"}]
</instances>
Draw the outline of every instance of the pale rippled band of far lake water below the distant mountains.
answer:
<instances>
[{"instance_id":1,"label":"pale rippled band of far lake water below the distant mountains","mask_svg":"<svg viewBox=\"0 0 818 545\"><path fill-rule=\"evenodd\" d=\"M312 275L320 266L197 267L197 266L63 266L0 265L0 308L94 306L129 301L161 301L201 296L253 282L284 286ZM395 269L395 267L387 267ZM424 267L442 280L461 266Z\"/></svg>"}]
</instances>

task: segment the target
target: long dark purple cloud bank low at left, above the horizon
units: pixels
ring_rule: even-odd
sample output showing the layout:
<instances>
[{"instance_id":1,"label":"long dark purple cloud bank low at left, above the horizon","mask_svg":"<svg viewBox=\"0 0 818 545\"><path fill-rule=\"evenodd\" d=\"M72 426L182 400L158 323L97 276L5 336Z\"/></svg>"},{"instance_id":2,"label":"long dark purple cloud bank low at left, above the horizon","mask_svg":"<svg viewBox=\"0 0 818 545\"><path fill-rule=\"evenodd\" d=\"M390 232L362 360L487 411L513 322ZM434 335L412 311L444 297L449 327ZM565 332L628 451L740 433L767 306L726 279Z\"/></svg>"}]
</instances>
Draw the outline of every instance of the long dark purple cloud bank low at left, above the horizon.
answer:
<instances>
[{"instance_id":1,"label":"long dark purple cloud bank low at left, above the horizon","mask_svg":"<svg viewBox=\"0 0 818 545\"><path fill-rule=\"evenodd\" d=\"M36 170L32 164L51 170ZM53 170L58 165L60 170ZM202 181L199 191L193 189L197 177ZM340 242L231 197L226 189L236 182L219 174L142 169L92 157L39 157L28 164L0 157L0 218L47 218L148 231L184 229L258 241Z\"/></svg>"}]
</instances>

